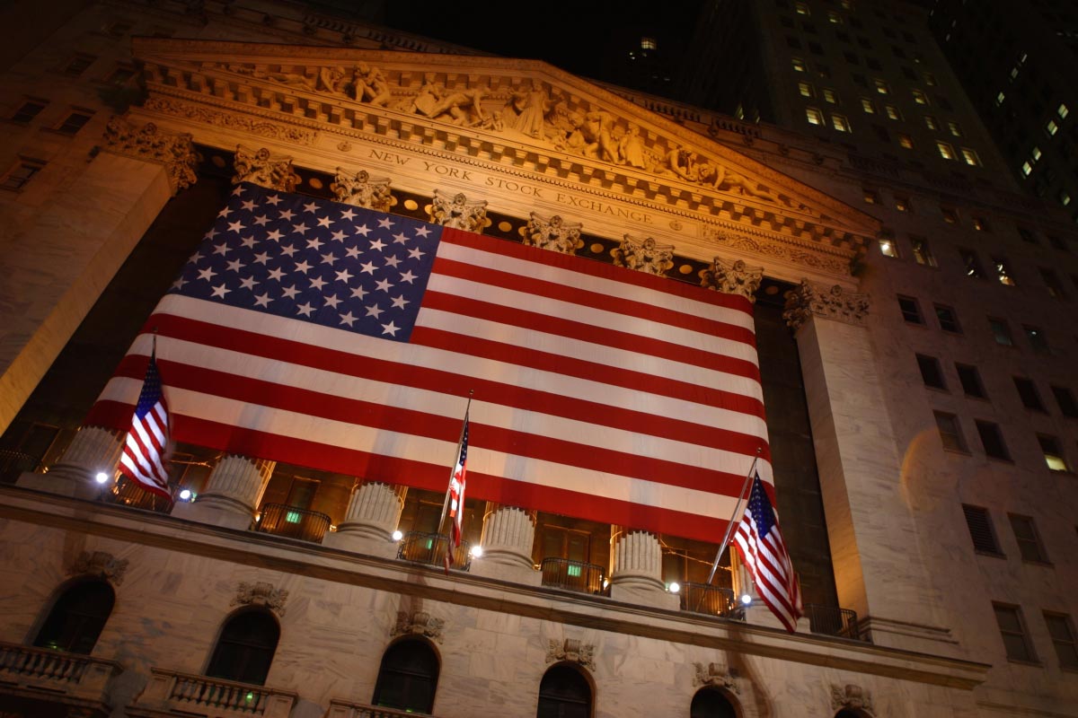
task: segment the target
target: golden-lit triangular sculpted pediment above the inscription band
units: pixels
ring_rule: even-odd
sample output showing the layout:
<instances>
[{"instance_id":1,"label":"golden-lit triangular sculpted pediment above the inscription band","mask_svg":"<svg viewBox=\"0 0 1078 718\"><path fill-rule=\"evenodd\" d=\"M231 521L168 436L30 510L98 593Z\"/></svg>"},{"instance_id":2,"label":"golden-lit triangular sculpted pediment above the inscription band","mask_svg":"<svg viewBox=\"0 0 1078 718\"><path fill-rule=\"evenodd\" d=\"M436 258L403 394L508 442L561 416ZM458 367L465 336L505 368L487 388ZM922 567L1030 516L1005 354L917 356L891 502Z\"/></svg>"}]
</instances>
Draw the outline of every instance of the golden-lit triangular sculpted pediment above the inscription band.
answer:
<instances>
[{"instance_id":1,"label":"golden-lit triangular sculpted pediment above the inscription band","mask_svg":"<svg viewBox=\"0 0 1078 718\"><path fill-rule=\"evenodd\" d=\"M774 235L834 253L835 266L879 230L848 205L538 60L148 38L134 51L151 109L246 107L290 126L286 142L334 129L391 137L708 215L713 239Z\"/></svg>"}]
</instances>

